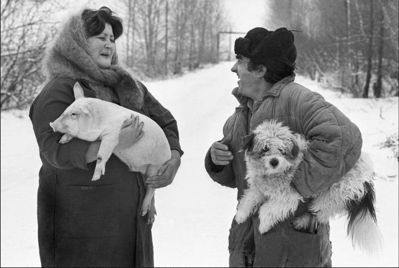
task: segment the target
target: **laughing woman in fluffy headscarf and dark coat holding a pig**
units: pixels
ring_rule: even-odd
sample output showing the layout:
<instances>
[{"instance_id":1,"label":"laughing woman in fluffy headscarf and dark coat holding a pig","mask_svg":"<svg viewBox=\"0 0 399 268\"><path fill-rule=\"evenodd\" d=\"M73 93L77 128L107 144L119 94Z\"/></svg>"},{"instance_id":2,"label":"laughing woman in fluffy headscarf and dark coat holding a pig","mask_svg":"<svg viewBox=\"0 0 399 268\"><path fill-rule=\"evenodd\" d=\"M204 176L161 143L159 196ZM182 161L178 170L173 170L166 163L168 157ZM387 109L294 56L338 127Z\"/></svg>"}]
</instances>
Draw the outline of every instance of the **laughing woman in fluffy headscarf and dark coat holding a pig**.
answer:
<instances>
[{"instance_id":1,"label":"laughing woman in fluffy headscarf and dark coat holding a pig","mask_svg":"<svg viewBox=\"0 0 399 268\"><path fill-rule=\"evenodd\" d=\"M146 183L170 184L180 166L176 120L139 81L118 65L115 40L122 21L102 7L71 16L46 51L48 83L30 108L43 163L39 172L38 237L43 267L152 267L151 225L140 216L145 194L142 175L131 172L115 155L107 172L91 181L99 142L77 138L59 144L52 122L74 101L73 85L86 97L115 102L152 118L164 130L172 159ZM122 130L121 148L140 138L136 120Z\"/></svg>"}]
</instances>

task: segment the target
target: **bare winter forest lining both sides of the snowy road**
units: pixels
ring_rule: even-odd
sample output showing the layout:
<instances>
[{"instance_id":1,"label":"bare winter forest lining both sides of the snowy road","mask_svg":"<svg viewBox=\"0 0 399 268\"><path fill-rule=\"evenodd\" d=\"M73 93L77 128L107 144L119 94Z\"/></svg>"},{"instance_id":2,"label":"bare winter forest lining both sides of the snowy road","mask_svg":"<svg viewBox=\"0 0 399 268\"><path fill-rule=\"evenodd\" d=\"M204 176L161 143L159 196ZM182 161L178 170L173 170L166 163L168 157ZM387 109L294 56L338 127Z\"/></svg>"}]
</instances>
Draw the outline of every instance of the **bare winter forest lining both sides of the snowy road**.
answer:
<instances>
[{"instance_id":1,"label":"bare winter forest lining both sides of the snowy road","mask_svg":"<svg viewBox=\"0 0 399 268\"><path fill-rule=\"evenodd\" d=\"M112 2L124 23L120 60L142 79L233 59L235 38L245 35L235 33L228 0ZM397 0L265 2L263 27L298 31L297 73L352 97L398 96ZM44 49L73 3L1 1L1 110L32 102L44 81Z\"/></svg>"}]
</instances>

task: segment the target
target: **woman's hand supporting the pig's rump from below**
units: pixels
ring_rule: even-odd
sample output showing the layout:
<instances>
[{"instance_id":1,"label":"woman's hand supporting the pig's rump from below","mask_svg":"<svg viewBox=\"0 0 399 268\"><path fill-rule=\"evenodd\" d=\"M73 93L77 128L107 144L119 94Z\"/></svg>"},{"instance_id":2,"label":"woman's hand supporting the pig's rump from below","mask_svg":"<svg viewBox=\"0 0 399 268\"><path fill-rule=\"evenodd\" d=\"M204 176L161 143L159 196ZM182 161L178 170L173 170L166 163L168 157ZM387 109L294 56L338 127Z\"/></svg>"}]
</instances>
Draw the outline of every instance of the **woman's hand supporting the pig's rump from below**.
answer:
<instances>
[{"instance_id":1,"label":"woman's hand supporting the pig's rump from below","mask_svg":"<svg viewBox=\"0 0 399 268\"><path fill-rule=\"evenodd\" d=\"M146 183L153 188L162 188L172 183L178 168L180 167L180 153L176 150L170 150L172 158L168 160L160 169L158 174L147 177Z\"/></svg>"}]
</instances>

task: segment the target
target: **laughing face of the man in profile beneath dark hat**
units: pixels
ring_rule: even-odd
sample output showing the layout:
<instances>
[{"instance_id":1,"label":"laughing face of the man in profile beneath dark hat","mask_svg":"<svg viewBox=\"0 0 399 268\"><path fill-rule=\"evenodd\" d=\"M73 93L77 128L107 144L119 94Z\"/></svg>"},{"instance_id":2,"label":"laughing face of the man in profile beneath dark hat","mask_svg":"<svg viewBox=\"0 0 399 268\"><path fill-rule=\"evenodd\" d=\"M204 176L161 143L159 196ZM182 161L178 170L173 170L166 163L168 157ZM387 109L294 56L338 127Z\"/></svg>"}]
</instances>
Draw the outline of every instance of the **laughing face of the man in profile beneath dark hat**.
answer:
<instances>
[{"instance_id":1,"label":"laughing face of the man in profile beneath dark hat","mask_svg":"<svg viewBox=\"0 0 399 268\"><path fill-rule=\"evenodd\" d=\"M259 77L256 75L256 71L248 71L248 63L251 59L244 57L243 55L236 55L237 62L231 68L233 73L236 73L240 79L238 83L238 93L243 96L250 97L253 99L253 95L257 90L256 85Z\"/></svg>"}]
</instances>

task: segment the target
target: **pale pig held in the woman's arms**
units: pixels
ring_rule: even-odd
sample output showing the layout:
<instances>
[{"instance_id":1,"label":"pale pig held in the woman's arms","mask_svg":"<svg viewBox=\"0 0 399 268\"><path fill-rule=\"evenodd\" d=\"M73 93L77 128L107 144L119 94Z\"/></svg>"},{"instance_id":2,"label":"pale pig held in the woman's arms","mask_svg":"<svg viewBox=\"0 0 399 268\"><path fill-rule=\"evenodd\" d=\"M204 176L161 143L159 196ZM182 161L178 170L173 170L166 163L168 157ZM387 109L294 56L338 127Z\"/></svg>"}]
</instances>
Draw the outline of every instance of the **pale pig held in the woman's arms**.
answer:
<instances>
[{"instance_id":1,"label":"pale pig held in the woman's arms","mask_svg":"<svg viewBox=\"0 0 399 268\"><path fill-rule=\"evenodd\" d=\"M97 164L92 180L105 174L105 163L114 153L127 164L130 171L138 171L146 177L157 175L158 169L172 157L166 136L151 118L124 108L112 102L86 98L79 83L73 87L75 101L54 122L50 122L54 132L64 133L60 143L72 138L95 141L101 140L97 154ZM114 150L119 142L119 132L125 120L131 115L139 116L144 122L143 136L129 148ZM155 207L153 196L155 189L148 186L140 208L140 215L148 212L148 224L154 222Z\"/></svg>"}]
</instances>

